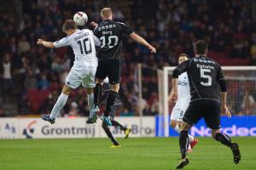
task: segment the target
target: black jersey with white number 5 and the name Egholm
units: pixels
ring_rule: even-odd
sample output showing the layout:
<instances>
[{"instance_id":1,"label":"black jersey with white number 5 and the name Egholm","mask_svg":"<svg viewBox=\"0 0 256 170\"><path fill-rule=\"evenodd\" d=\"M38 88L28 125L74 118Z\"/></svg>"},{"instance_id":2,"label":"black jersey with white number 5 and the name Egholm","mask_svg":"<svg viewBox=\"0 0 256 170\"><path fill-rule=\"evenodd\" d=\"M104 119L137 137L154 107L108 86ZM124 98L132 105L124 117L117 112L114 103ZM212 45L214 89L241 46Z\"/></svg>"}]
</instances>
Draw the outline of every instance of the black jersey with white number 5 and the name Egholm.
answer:
<instances>
[{"instance_id":1,"label":"black jersey with white number 5 and the name Egholm","mask_svg":"<svg viewBox=\"0 0 256 170\"><path fill-rule=\"evenodd\" d=\"M205 56L194 57L177 65L172 77L187 71L191 101L195 99L214 99L219 101L218 82L224 80L223 71L214 60ZM174 73L176 72L176 73Z\"/></svg>"}]
</instances>

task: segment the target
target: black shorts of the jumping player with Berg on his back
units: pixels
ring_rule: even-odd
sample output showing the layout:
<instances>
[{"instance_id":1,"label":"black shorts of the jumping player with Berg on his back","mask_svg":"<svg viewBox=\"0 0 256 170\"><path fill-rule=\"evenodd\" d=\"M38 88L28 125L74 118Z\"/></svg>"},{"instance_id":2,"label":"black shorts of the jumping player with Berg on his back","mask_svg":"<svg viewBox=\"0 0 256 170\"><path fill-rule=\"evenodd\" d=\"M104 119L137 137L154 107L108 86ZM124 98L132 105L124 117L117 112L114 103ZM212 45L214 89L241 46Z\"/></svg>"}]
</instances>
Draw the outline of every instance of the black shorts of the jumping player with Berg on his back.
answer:
<instances>
[{"instance_id":1,"label":"black shorts of the jumping player with Berg on his back","mask_svg":"<svg viewBox=\"0 0 256 170\"><path fill-rule=\"evenodd\" d=\"M110 84L117 84L121 81L121 59L99 59L96 70L96 78L109 79Z\"/></svg>"}]
</instances>

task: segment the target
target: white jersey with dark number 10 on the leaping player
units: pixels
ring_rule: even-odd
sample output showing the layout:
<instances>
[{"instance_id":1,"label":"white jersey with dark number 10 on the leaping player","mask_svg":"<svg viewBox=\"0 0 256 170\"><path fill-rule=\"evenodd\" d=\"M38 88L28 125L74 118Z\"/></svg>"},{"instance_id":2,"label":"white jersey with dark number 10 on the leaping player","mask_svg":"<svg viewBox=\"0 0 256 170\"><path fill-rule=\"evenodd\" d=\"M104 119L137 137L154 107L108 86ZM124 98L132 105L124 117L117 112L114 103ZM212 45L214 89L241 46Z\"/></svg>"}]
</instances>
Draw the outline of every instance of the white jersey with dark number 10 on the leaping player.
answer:
<instances>
[{"instance_id":1,"label":"white jersey with dark number 10 on the leaping player","mask_svg":"<svg viewBox=\"0 0 256 170\"><path fill-rule=\"evenodd\" d=\"M71 46L75 55L74 65L90 65L91 63L97 63L95 46L100 46L101 41L92 31L83 29L77 30L72 35L54 42L54 45L55 48Z\"/></svg>"}]
</instances>

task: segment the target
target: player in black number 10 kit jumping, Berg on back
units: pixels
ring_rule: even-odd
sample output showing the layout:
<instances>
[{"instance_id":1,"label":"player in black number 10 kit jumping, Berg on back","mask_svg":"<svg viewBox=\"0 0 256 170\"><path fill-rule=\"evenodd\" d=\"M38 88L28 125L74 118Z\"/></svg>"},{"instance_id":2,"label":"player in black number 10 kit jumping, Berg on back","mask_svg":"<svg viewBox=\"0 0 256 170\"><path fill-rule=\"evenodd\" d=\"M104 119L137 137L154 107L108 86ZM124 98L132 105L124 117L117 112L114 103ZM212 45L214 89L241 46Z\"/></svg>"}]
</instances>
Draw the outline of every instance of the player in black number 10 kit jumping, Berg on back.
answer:
<instances>
[{"instance_id":1,"label":"player in black number 10 kit jumping, Berg on back","mask_svg":"<svg viewBox=\"0 0 256 170\"><path fill-rule=\"evenodd\" d=\"M124 35L142 43L150 50L151 53L155 53L156 50L152 45L146 42L143 37L138 36L130 26L114 21L111 8L102 8L101 15L102 23L99 25L95 22L91 23L91 26L96 27L94 31L96 37L102 41L101 49L97 54L99 63L96 70L96 88L94 93L95 111L98 110L98 100L102 96L102 82L106 77L108 77L110 91L108 93L106 110L101 118L103 122L106 122L111 126L112 123L109 119L109 112L111 111L111 106L119 93L119 82L122 72L120 51Z\"/></svg>"}]
</instances>

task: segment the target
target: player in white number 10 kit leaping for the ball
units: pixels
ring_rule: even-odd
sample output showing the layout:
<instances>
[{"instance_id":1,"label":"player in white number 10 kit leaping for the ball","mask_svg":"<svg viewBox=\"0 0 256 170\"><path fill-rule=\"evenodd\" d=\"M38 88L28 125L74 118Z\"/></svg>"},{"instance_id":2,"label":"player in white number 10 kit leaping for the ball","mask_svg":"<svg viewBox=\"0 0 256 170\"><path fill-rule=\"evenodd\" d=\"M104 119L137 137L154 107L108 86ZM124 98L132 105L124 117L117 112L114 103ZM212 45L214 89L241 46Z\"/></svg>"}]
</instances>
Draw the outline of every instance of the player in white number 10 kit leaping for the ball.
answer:
<instances>
[{"instance_id":1,"label":"player in white number 10 kit leaping for the ball","mask_svg":"<svg viewBox=\"0 0 256 170\"><path fill-rule=\"evenodd\" d=\"M63 24L62 31L67 34L67 37L56 42L46 42L38 39L38 45L43 45L46 48L61 48L71 46L75 55L73 67L70 70L62 93L56 101L55 106L48 115L42 115L44 121L55 123L55 118L67 102L68 95L75 88L82 86L85 88L88 95L88 105L90 109L90 118L94 116L94 94L95 74L97 67L96 47L100 46L101 41L94 36L93 32L88 29L79 30L73 20L66 20Z\"/></svg>"}]
</instances>

